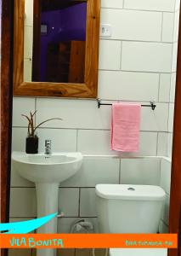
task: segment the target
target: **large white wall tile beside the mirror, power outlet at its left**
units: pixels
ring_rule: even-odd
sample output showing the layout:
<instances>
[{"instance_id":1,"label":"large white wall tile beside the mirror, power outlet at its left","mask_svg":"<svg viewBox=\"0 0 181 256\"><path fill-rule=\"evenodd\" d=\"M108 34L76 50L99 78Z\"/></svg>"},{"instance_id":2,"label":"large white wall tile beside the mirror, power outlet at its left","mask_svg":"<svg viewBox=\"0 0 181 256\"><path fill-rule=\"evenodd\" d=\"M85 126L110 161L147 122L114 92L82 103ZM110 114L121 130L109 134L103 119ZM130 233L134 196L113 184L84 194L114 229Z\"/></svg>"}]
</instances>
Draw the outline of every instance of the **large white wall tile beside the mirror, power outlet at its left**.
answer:
<instances>
[{"instance_id":1,"label":"large white wall tile beside the mirror, power outlet at its left","mask_svg":"<svg viewBox=\"0 0 181 256\"><path fill-rule=\"evenodd\" d=\"M161 19L162 15L159 12L101 10L101 23L112 26L112 39L160 41Z\"/></svg>"}]
</instances>

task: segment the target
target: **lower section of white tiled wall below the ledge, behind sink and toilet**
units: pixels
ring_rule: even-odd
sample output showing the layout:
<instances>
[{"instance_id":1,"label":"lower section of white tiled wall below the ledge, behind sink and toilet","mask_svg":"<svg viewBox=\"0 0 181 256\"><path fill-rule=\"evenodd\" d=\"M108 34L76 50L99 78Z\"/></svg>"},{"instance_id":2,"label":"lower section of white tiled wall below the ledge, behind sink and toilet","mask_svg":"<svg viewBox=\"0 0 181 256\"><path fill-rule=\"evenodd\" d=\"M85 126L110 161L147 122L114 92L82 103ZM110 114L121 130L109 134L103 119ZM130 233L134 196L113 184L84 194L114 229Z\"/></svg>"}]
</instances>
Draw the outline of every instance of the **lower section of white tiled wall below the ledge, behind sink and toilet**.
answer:
<instances>
[{"instance_id":1,"label":"lower section of white tiled wall below the ledge, behind sink and toilet","mask_svg":"<svg viewBox=\"0 0 181 256\"><path fill-rule=\"evenodd\" d=\"M82 168L75 176L59 184L59 212L69 221L75 218L96 218L95 185L98 183L133 183L167 187L168 170L161 180L161 158L121 159L112 156L84 156ZM35 218L37 201L35 184L21 178L12 168L10 217ZM64 221L60 219L59 221ZM67 219L68 221L68 219ZM70 223L70 222L69 222ZM69 227L70 228L70 227ZM66 227L65 231L69 231Z\"/></svg>"}]
</instances>

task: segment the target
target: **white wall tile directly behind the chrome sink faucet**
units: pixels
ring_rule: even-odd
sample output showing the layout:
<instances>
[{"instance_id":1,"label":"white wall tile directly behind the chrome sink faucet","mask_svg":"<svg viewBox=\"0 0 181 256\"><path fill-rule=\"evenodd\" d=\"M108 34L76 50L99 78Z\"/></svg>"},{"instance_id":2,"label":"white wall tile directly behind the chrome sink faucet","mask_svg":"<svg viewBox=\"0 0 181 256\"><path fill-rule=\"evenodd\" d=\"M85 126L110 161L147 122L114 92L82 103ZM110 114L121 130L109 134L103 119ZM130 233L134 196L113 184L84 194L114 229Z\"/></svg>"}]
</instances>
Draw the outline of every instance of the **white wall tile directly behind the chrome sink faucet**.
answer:
<instances>
[{"instance_id":1,"label":"white wall tile directly behind the chrome sink faucet","mask_svg":"<svg viewBox=\"0 0 181 256\"><path fill-rule=\"evenodd\" d=\"M61 122L61 121L60 121ZM45 151L45 140L52 141L52 152L75 152L76 130L68 129L38 129L39 152Z\"/></svg>"}]
</instances>

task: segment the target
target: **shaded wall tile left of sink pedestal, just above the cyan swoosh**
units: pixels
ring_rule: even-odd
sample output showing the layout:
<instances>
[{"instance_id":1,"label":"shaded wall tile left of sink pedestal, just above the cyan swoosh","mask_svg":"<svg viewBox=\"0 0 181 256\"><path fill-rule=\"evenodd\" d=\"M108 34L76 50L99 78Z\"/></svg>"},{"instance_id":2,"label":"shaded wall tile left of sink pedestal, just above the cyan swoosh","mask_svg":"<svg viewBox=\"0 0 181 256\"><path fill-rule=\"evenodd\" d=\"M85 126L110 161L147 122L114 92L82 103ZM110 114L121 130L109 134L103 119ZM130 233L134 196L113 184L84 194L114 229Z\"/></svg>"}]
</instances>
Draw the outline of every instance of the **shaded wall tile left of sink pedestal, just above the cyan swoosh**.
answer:
<instances>
[{"instance_id":1,"label":"shaded wall tile left of sink pedestal, just above the cyan swoosh","mask_svg":"<svg viewBox=\"0 0 181 256\"><path fill-rule=\"evenodd\" d=\"M36 216L37 201L35 189L11 188L10 218Z\"/></svg>"}]
</instances>

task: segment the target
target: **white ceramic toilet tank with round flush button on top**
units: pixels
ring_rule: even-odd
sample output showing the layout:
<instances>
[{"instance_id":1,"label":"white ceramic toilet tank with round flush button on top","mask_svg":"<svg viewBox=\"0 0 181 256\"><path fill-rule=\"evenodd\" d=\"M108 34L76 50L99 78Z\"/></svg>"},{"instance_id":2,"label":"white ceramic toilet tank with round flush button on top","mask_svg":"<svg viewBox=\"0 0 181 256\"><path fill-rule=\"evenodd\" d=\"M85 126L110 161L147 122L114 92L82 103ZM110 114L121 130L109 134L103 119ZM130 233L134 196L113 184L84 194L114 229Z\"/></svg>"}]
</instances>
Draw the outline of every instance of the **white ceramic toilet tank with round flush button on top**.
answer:
<instances>
[{"instance_id":1,"label":"white ceramic toilet tank with round flush button on top","mask_svg":"<svg viewBox=\"0 0 181 256\"><path fill-rule=\"evenodd\" d=\"M163 189L100 184L95 191L100 233L157 233L166 196Z\"/></svg>"}]
</instances>

